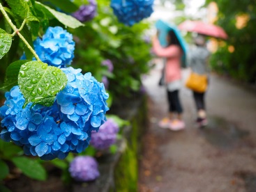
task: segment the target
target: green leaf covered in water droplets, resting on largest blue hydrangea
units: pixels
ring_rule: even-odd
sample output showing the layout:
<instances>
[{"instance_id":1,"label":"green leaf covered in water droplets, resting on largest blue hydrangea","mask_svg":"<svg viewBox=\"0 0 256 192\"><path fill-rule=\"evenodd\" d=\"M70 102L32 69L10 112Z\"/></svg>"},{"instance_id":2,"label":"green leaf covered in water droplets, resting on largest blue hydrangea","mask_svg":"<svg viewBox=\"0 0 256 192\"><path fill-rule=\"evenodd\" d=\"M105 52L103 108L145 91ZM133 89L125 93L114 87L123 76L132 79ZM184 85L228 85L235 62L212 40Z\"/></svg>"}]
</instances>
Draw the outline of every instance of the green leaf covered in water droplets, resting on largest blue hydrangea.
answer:
<instances>
[{"instance_id":1,"label":"green leaf covered in water droplets, resting on largest blue hydrangea","mask_svg":"<svg viewBox=\"0 0 256 192\"><path fill-rule=\"evenodd\" d=\"M52 106L54 98L65 88L68 79L58 67L48 66L41 61L29 61L20 67L18 84L29 102Z\"/></svg>"}]
</instances>

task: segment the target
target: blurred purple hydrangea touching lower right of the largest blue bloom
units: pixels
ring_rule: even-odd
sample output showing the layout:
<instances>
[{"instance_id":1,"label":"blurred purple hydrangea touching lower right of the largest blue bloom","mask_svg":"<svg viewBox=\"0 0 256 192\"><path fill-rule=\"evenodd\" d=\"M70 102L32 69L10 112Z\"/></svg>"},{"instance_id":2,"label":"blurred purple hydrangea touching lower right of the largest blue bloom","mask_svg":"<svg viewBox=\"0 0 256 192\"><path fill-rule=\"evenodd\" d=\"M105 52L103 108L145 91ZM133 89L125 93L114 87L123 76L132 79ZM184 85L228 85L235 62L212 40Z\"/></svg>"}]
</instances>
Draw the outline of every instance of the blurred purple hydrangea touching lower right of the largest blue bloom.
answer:
<instances>
[{"instance_id":1,"label":"blurred purple hydrangea touching lower right of the largest blue bloom","mask_svg":"<svg viewBox=\"0 0 256 192\"><path fill-rule=\"evenodd\" d=\"M118 125L112 119L108 119L100 126L98 132L91 132L91 145L98 150L105 150L116 143L116 134L119 131Z\"/></svg>"}]
</instances>

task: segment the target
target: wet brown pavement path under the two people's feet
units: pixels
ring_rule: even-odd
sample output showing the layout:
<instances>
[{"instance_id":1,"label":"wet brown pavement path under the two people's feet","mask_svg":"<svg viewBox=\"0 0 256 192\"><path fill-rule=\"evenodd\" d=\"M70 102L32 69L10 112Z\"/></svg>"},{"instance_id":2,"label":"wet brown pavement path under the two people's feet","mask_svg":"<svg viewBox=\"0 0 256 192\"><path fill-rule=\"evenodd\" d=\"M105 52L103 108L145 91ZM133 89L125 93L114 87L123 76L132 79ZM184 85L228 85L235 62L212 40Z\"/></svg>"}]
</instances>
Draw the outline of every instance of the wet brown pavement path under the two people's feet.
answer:
<instances>
[{"instance_id":1,"label":"wet brown pavement path under the two people's feet","mask_svg":"<svg viewBox=\"0 0 256 192\"><path fill-rule=\"evenodd\" d=\"M167 114L161 66L143 83L149 95L149 127L143 137L139 191L255 192L256 92L211 75L206 93L209 125L196 127L192 93L180 91L186 130L158 127ZM183 70L183 79L188 70Z\"/></svg>"}]
</instances>

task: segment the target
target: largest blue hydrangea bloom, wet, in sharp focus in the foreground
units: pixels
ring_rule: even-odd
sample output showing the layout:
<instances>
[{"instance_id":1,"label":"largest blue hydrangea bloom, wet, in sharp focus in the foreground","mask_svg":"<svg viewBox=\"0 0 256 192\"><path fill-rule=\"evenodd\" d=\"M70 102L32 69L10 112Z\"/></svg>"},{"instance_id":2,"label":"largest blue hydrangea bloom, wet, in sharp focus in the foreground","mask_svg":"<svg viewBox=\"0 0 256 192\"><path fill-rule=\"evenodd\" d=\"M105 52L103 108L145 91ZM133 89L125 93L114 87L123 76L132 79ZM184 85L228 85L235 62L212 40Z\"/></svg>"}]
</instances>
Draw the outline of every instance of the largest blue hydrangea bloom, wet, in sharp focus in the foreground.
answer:
<instances>
[{"instance_id":1,"label":"largest blue hydrangea bloom, wet, in sharp focus in the foreground","mask_svg":"<svg viewBox=\"0 0 256 192\"><path fill-rule=\"evenodd\" d=\"M27 155L44 160L64 159L68 152L82 152L91 140L91 131L98 131L105 122L108 109L103 83L81 69L61 68L68 83L50 107L29 103L18 86L6 93L0 108L1 138L24 147Z\"/></svg>"}]
</instances>

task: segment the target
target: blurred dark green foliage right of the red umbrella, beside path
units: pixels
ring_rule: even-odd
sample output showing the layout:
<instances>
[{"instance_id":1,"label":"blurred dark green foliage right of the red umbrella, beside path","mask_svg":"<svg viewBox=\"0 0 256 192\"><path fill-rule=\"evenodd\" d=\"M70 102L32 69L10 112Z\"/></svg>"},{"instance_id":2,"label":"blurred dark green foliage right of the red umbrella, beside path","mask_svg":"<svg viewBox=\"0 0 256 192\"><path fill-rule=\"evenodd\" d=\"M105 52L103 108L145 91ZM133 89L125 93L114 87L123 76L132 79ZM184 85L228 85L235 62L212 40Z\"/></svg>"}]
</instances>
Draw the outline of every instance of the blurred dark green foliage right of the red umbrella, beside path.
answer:
<instances>
[{"instance_id":1,"label":"blurred dark green foliage right of the red umbrella, beside path","mask_svg":"<svg viewBox=\"0 0 256 192\"><path fill-rule=\"evenodd\" d=\"M206 5L211 1L207 0ZM256 81L256 39L255 19L256 2L241 1L216 1L218 4L218 21L216 24L225 29L229 35L228 40L219 47L218 51L211 56L213 70L221 74L255 83ZM249 20L242 29L236 28L236 17L248 15ZM234 52L229 51L229 46L234 47Z\"/></svg>"}]
</instances>

